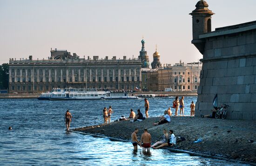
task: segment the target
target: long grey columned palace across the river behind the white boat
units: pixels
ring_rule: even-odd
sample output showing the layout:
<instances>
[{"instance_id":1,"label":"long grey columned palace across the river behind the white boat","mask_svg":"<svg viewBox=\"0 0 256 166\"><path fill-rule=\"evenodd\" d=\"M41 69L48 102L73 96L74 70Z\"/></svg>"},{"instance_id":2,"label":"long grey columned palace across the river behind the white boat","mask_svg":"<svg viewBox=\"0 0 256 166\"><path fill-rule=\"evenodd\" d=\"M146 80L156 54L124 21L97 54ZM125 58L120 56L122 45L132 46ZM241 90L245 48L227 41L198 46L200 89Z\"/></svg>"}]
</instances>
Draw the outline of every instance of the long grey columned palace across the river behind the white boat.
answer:
<instances>
[{"instance_id":1,"label":"long grey columned palace across the river behind the white boat","mask_svg":"<svg viewBox=\"0 0 256 166\"><path fill-rule=\"evenodd\" d=\"M39 93L53 88L114 88L134 90L141 87L139 59L81 59L67 50L51 50L48 60L9 61L9 93Z\"/></svg>"}]
</instances>

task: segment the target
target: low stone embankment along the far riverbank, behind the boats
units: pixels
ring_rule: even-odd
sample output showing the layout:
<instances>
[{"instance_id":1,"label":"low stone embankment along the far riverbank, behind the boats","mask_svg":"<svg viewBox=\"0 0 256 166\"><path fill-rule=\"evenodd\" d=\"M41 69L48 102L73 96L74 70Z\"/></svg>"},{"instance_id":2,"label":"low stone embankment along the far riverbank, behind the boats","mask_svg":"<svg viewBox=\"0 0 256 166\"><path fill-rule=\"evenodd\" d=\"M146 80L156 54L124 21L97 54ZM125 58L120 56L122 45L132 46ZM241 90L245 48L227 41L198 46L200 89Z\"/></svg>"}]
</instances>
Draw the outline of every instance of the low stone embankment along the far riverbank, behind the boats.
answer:
<instances>
[{"instance_id":1,"label":"low stone embankment along the far riverbank, behind the boats","mask_svg":"<svg viewBox=\"0 0 256 166\"><path fill-rule=\"evenodd\" d=\"M0 93L0 99L35 99L41 93ZM196 92L135 92L138 94L168 94L168 96L197 96Z\"/></svg>"}]
</instances>

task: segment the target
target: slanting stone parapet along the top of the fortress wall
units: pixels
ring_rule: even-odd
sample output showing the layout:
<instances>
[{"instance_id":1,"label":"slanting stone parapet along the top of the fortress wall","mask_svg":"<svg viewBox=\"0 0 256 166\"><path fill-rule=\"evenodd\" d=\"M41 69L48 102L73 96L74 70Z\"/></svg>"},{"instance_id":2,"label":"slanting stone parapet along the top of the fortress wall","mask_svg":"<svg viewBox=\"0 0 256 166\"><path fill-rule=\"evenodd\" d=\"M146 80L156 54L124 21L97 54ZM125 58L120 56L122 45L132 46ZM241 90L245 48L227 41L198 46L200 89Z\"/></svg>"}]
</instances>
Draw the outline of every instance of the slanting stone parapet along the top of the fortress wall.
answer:
<instances>
[{"instance_id":1,"label":"slanting stone parapet along the top of the fortress wall","mask_svg":"<svg viewBox=\"0 0 256 166\"><path fill-rule=\"evenodd\" d=\"M231 34L231 33L239 33L243 31L249 31L252 29L256 29L256 21L246 22L243 24L237 24L237 25L232 25L227 27L219 27L219 28L216 28L215 31L199 35L199 39L209 38L213 36L221 36L221 35Z\"/></svg>"}]
</instances>

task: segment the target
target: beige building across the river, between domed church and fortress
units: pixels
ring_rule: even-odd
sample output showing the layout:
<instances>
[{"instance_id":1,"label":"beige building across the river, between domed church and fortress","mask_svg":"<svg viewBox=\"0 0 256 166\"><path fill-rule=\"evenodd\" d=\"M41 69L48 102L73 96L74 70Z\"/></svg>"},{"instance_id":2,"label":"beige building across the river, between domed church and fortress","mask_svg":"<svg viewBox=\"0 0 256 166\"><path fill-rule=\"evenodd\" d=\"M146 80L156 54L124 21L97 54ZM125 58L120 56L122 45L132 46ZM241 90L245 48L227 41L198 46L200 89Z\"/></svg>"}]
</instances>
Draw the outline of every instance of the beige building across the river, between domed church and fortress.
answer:
<instances>
[{"instance_id":1,"label":"beige building across the river, between domed church and fortress","mask_svg":"<svg viewBox=\"0 0 256 166\"><path fill-rule=\"evenodd\" d=\"M151 91L197 91L200 82L201 62L184 64L176 63L147 72L147 87Z\"/></svg>"}]
</instances>

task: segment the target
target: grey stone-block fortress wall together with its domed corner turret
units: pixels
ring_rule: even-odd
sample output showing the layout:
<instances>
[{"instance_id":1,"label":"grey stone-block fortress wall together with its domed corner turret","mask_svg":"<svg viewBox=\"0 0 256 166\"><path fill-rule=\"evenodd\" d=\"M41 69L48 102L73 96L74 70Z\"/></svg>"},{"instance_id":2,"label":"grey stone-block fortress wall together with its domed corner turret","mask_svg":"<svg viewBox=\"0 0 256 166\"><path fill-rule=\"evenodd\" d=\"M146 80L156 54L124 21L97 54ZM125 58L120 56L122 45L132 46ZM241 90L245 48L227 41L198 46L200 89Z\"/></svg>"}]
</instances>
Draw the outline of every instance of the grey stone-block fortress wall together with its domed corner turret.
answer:
<instances>
[{"instance_id":1,"label":"grey stone-block fortress wall together with its domed corner turret","mask_svg":"<svg viewBox=\"0 0 256 166\"><path fill-rule=\"evenodd\" d=\"M203 54L195 116L211 113L217 94L227 119L256 120L256 21L211 32L214 13L204 0L195 7L192 44Z\"/></svg>"}]
</instances>

